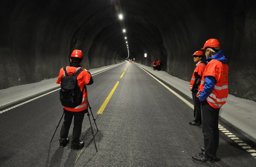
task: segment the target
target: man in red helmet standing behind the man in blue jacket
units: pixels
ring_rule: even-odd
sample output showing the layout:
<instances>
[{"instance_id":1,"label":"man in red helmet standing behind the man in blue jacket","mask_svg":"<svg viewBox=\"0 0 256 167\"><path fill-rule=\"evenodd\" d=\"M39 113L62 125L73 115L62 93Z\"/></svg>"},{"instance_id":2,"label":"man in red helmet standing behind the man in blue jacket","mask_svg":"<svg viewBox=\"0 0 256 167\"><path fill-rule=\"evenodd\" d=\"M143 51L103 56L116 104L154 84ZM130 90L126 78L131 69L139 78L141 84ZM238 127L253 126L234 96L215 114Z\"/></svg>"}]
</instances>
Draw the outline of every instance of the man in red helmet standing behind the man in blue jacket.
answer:
<instances>
[{"instance_id":1,"label":"man in red helmet standing behind the man in blue jacket","mask_svg":"<svg viewBox=\"0 0 256 167\"><path fill-rule=\"evenodd\" d=\"M196 63L196 68L193 72L191 81L189 83L190 91L192 92L192 98L194 102L194 120L190 121L190 125L201 125L201 103L197 97L197 92L199 90L199 85L201 83L201 78L203 76L206 65L202 62L203 52L198 50L193 56L193 60Z\"/></svg>"}]
</instances>

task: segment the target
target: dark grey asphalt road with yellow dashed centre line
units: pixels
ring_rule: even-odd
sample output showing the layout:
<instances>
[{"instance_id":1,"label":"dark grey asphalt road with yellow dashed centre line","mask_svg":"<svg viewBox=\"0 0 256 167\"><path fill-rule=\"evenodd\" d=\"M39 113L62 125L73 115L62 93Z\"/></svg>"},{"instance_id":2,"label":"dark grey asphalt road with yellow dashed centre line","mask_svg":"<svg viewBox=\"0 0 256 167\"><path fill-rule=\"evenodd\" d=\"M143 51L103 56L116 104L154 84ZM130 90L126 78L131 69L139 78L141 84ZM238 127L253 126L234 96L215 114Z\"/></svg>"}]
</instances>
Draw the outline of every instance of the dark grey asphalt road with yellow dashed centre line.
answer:
<instances>
[{"instance_id":1,"label":"dark grey asphalt road with yellow dashed centre line","mask_svg":"<svg viewBox=\"0 0 256 167\"><path fill-rule=\"evenodd\" d=\"M97 152L87 114L83 149L71 151L70 143L59 148L63 120L50 143L63 114L59 91L55 91L0 114L0 166L256 167L256 158L223 132L215 163L193 162L192 155L203 146L203 135L201 126L188 124L192 108L134 63L124 63L93 79L87 89L99 129L91 119ZM100 108L102 114L97 114ZM71 140L72 130L73 126Z\"/></svg>"}]
</instances>

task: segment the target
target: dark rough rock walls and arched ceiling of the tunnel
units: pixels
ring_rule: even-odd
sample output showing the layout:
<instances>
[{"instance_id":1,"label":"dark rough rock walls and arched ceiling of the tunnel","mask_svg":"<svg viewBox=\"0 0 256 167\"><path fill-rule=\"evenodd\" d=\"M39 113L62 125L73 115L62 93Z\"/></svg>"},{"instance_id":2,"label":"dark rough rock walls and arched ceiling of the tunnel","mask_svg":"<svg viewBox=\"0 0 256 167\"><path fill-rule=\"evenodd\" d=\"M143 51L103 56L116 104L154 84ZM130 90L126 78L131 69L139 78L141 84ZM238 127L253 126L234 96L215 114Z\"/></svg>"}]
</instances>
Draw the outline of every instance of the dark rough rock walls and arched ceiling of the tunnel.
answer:
<instances>
[{"instance_id":1,"label":"dark rough rock walls and arched ceiling of the tunnel","mask_svg":"<svg viewBox=\"0 0 256 167\"><path fill-rule=\"evenodd\" d=\"M256 101L254 0L120 2L129 58L146 66L161 58L162 70L189 81L191 54L217 38L230 94ZM73 49L87 69L122 62L128 52L115 7L114 0L1 0L0 89L56 77Z\"/></svg>"}]
</instances>

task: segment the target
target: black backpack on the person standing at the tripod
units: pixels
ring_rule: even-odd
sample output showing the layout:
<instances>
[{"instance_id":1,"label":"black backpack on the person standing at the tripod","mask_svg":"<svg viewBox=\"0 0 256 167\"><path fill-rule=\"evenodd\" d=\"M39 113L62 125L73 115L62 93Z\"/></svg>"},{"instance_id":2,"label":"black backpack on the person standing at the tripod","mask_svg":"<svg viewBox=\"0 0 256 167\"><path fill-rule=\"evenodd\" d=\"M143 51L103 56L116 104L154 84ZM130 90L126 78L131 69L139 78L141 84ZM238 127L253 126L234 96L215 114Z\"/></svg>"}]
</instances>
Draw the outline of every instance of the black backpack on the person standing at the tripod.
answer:
<instances>
[{"instance_id":1,"label":"black backpack on the person standing at the tripod","mask_svg":"<svg viewBox=\"0 0 256 167\"><path fill-rule=\"evenodd\" d=\"M61 78L59 99L63 106L74 108L82 103L82 91L78 86L77 76L82 72L79 68L74 74L69 75L66 67L63 67L65 76Z\"/></svg>"}]
</instances>

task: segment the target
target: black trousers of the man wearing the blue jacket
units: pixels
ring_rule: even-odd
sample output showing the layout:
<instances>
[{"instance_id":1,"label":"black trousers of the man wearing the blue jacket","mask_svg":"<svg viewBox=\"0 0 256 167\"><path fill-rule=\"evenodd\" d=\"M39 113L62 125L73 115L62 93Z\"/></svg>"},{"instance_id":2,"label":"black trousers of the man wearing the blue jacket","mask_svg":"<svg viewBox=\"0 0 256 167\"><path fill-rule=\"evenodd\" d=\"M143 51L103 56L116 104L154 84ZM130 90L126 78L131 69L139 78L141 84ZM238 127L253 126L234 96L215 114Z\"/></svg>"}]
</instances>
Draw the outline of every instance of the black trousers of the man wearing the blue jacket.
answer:
<instances>
[{"instance_id":1,"label":"black trousers of the man wearing the blue jacket","mask_svg":"<svg viewBox=\"0 0 256 167\"><path fill-rule=\"evenodd\" d=\"M213 158L219 147L219 109L212 108L207 101L201 103L202 131L205 154Z\"/></svg>"}]
</instances>

